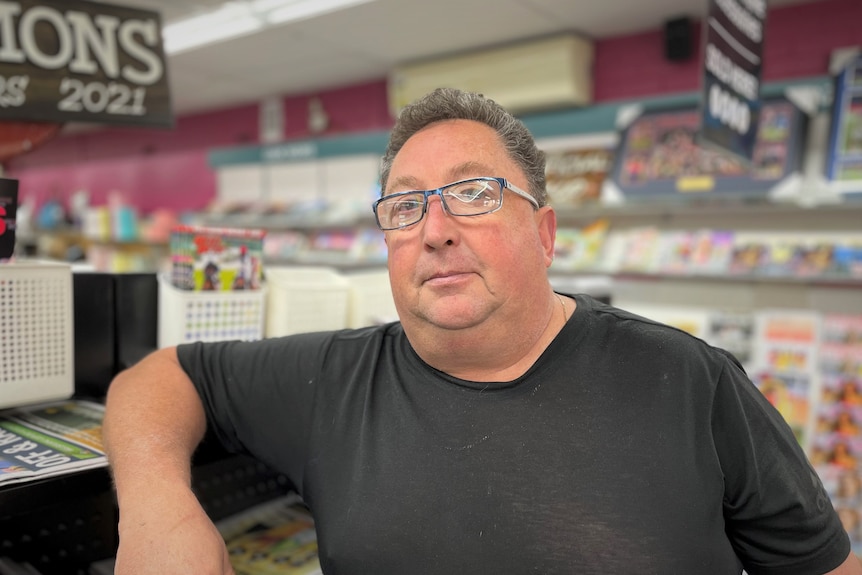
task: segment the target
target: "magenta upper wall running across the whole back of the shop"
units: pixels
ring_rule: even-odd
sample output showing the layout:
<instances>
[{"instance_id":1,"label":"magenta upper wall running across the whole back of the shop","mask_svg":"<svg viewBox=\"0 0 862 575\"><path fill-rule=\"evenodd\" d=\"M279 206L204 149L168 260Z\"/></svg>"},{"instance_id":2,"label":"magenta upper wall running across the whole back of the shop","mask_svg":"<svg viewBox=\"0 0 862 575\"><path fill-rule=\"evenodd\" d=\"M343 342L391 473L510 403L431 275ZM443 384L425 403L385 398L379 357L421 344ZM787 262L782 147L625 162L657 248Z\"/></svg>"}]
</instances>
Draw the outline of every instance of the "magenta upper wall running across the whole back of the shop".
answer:
<instances>
[{"instance_id":1,"label":"magenta upper wall running across the whole back of the shop","mask_svg":"<svg viewBox=\"0 0 862 575\"><path fill-rule=\"evenodd\" d=\"M862 1L818 0L770 11L764 47L764 79L822 76L836 48L862 44ZM700 40L685 62L663 56L662 31L596 42L596 102L692 92L700 83ZM308 100L317 96L329 114L328 135L377 131L392 125L386 81L286 97L288 139L308 137L303 129ZM103 129L61 136L6 166L20 180L22 199L41 203L90 192L95 205L122 192L142 213L155 208L198 210L216 194L207 153L213 148L256 144L257 105L179 118L173 130ZM0 127L0 129L2 129Z\"/></svg>"}]
</instances>

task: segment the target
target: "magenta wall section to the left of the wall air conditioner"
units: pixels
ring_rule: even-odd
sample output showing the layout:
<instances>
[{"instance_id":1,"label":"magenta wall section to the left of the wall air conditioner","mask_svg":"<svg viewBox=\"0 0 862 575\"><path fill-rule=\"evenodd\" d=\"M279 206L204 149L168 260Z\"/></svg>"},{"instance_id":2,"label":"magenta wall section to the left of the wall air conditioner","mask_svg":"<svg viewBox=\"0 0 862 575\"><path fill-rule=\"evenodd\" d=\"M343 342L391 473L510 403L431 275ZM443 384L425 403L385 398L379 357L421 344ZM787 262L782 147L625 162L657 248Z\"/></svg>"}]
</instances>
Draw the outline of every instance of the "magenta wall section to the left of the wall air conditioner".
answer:
<instances>
[{"instance_id":1,"label":"magenta wall section to the left of the wall air conditioner","mask_svg":"<svg viewBox=\"0 0 862 575\"><path fill-rule=\"evenodd\" d=\"M315 95L329 114L328 135L392 125L385 80ZM309 98L285 98L288 139L309 136L301 128ZM208 152L258 140L258 108L253 104L182 117L172 130L107 128L64 135L9 162L7 172L19 180L22 201L37 206L51 197L65 201L84 189L92 205L104 205L109 194L120 192L142 214L157 208L200 210L216 195Z\"/></svg>"}]
</instances>

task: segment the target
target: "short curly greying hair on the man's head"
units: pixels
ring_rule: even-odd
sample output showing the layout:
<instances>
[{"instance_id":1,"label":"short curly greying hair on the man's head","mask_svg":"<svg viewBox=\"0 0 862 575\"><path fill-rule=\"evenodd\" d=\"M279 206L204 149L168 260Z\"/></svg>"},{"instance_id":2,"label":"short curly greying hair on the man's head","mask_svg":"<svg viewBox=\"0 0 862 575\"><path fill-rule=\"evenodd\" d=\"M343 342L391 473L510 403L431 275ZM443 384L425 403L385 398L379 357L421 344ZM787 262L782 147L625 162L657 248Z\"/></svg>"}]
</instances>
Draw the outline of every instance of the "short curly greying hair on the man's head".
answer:
<instances>
[{"instance_id":1,"label":"short curly greying hair on the man's head","mask_svg":"<svg viewBox=\"0 0 862 575\"><path fill-rule=\"evenodd\" d=\"M545 153L536 147L533 135L524 123L494 100L455 88L437 88L401 111L380 164L381 190L386 190L392 162L407 140L422 128L441 120L473 120L493 128L509 157L526 174L530 194L539 206L548 203Z\"/></svg>"}]
</instances>

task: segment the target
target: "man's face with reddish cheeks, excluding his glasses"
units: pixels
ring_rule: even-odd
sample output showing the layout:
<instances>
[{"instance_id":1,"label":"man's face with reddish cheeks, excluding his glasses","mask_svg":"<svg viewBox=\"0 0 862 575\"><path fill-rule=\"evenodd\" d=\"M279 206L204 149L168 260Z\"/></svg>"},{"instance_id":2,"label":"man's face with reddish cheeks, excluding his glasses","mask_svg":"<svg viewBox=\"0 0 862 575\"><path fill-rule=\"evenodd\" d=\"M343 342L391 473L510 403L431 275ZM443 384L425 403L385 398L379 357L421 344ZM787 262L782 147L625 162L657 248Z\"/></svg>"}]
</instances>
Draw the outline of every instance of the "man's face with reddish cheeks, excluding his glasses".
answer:
<instances>
[{"instance_id":1,"label":"man's face with reddish cheeks, excluding his glasses","mask_svg":"<svg viewBox=\"0 0 862 575\"><path fill-rule=\"evenodd\" d=\"M494 130L468 120L437 122L411 137L395 157L384 194L478 176L506 178L528 189ZM405 328L470 328L501 309L497 317L516 314L523 298L547 285L553 215L549 208L535 212L511 191L503 196L500 210L474 217L450 216L439 196L432 196L422 221L386 232L389 275Z\"/></svg>"}]
</instances>

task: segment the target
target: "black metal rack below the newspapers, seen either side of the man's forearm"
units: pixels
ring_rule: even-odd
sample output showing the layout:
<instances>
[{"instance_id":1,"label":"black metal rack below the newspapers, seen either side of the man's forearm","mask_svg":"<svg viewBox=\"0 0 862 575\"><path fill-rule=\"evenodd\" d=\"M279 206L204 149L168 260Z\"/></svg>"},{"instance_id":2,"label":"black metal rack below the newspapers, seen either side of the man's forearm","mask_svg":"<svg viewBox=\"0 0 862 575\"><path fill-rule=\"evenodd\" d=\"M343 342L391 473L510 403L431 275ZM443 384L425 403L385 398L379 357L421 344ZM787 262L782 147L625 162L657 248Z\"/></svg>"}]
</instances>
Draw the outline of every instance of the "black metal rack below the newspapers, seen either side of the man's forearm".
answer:
<instances>
[{"instance_id":1,"label":"black metal rack below the newspapers, seen either side of the man's forearm","mask_svg":"<svg viewBox=\"0 0 862 575\"><path fill-rule=\"evenodd\" d=\"M259 461L205 443L192 488L218 521L291 486ZM9 485L0 488L0 556L28 562L43 575L87 575L91 563L115 555L118 518L107 468Z\"/></svg>"}]
</instances>

